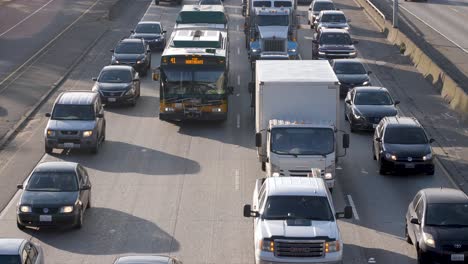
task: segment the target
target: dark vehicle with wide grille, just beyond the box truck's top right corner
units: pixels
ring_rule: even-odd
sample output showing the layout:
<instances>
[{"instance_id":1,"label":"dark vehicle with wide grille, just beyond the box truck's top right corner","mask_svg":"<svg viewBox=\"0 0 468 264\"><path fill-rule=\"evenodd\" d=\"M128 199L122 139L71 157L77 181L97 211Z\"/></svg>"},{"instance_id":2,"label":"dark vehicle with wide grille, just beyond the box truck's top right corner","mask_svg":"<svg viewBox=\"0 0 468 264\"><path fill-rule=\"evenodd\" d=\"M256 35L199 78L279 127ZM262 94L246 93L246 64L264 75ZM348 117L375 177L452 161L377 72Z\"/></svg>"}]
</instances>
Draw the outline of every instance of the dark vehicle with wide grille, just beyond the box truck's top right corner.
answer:
<instances>
[{"instance_id":1,"label":"dark vehicle with wide grille, just beyond the box truck's top right corner","mask_svg":"<svg viewBox=\"0 0 468 264\"><path fill-rule=\"evenodd\" d=\"M312 40L312 59L355 58L356 43L345 29L323 28Z\"/></svg>"}]
</instances>

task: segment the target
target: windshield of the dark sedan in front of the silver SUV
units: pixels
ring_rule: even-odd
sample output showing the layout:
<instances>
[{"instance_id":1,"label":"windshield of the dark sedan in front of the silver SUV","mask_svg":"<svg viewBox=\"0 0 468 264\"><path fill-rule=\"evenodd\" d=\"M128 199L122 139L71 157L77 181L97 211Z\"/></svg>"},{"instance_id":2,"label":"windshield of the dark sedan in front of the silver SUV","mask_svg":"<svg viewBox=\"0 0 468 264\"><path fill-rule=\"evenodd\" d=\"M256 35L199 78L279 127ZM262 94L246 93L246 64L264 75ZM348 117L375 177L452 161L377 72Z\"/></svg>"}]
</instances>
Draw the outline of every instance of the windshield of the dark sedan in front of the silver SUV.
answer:
<instances>
[{"instance_id":1,"label":"windshield of the dark sedan in front of the silver SUV","mask_svg":"<svg viewBox=\"0 0 468 264\"><path fill-rule=\"evenodd\" d=\"M27 191L75 192L78 190L73 171L33 172L26 186Z\"/></svg>"}]
</instances>

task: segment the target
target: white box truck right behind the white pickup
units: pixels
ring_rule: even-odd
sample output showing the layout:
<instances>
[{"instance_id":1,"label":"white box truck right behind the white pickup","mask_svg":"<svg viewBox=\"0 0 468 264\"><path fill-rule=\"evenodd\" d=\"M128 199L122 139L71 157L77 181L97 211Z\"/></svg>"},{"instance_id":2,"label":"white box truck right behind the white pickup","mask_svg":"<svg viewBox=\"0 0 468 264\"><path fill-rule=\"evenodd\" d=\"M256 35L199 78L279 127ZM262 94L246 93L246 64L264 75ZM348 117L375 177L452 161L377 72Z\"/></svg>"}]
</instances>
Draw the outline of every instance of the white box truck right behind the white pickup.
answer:
<instances>
[{"instance_id":1,"label":"white box truck right behind the white pickup","mask_svg":"<svg viewBox=\"0 0 468 264\"><path fill-rule=\"evenodd\" d=\"M257 61L255 144L267 176L308 176L320 169L331 189L349 135L338 135L339 84L328 61Z\"/></svg>"}]
</instances>

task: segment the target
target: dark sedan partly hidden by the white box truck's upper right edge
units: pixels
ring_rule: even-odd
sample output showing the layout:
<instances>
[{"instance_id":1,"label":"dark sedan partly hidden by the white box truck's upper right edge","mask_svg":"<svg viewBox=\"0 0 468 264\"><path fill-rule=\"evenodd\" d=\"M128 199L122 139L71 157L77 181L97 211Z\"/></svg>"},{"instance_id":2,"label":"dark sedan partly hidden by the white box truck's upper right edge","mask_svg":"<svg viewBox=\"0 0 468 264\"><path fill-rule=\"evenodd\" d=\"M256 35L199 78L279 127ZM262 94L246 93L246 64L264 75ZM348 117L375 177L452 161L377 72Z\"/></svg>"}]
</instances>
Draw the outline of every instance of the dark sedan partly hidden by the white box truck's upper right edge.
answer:
<instances>
[{"instance_id":1,"label":"dark sedan partly hidden by the white box truck's upper right edge","mask_svg":"<svg viewBox=\"0 0 468 264\"><path fill-rule=\"evenodd\" d=\"M333 71L340 81L340 96L345 97L348 91L356 86L369 86L371 71L366 71L358 59L336 59L331 62Z\"/></svg>"}]
</instances>

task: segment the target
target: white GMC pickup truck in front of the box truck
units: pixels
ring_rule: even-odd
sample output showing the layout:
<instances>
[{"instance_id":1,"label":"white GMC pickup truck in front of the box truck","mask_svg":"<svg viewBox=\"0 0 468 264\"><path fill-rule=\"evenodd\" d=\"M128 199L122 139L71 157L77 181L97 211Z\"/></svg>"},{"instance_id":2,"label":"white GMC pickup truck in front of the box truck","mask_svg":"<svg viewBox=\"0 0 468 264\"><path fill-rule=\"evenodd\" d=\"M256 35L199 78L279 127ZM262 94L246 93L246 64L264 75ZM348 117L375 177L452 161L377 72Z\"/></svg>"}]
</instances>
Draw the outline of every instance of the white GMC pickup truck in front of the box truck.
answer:
<instances>
[{"instance_id":1,"label":"white GMC pickup truck in front of the box truck","mask_svg":"<svg viewBox=\"0 0 468 264\"><path fill-rule=\"evenodd\" d=\"M331 194L320 177L268 177L255 184L252 205L256 264L342 263L343 243Z\"/></svg>"}]
</instances>

